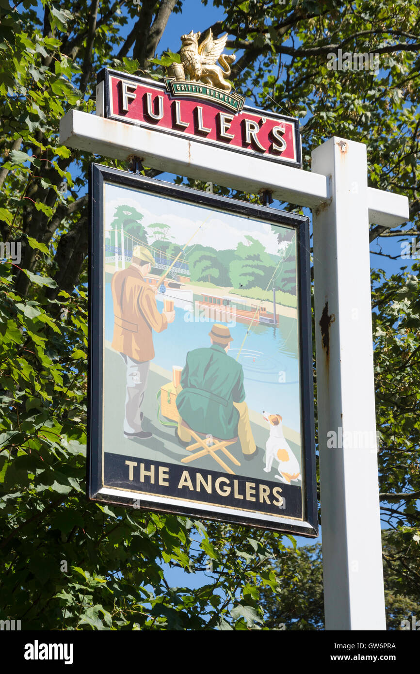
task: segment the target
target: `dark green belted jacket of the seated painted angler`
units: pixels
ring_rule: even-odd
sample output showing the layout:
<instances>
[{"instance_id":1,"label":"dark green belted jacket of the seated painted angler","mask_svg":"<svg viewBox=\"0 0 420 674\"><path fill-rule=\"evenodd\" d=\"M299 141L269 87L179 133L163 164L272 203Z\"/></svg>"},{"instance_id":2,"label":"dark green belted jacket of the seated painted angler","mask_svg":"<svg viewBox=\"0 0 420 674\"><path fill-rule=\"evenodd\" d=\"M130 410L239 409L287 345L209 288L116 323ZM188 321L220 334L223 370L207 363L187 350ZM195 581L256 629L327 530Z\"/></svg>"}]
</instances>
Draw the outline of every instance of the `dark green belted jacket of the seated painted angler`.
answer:
<instances>
[{"instance_id":1,"label":"dark green belted jacket of the seated painted angler","mask_svg":"<svg viewBox=\"0 0 420 674\"><path fill-rule=\"evenodd\" d=\"M222 440L237 436L239 412L233 402L245 400L243 369L222 346L189 351L181 386L177 408L193 431Z\"/></svg>"}]
</instances>

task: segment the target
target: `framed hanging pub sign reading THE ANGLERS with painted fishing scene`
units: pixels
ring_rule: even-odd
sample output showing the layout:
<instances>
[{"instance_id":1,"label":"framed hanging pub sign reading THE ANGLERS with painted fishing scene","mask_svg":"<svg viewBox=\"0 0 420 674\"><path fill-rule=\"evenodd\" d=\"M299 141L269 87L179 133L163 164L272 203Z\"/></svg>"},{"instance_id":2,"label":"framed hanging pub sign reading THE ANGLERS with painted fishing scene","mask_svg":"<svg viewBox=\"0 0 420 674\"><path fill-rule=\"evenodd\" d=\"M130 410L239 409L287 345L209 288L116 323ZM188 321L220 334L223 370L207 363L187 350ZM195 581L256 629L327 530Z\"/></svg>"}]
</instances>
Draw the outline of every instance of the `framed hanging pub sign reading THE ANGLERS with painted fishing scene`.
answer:
<instances>
[{"instance_id":1,"label":"framed hanging pub sign reading THE ANGLERS with painted fishing scene","mask_svg":"<svg viewBox=\"0 0 420 674\"><path fill-rule=\"evenodd\" d=\"M88 496L318 534L308 218L92 164Z\"/></svg>"}]
</instances>

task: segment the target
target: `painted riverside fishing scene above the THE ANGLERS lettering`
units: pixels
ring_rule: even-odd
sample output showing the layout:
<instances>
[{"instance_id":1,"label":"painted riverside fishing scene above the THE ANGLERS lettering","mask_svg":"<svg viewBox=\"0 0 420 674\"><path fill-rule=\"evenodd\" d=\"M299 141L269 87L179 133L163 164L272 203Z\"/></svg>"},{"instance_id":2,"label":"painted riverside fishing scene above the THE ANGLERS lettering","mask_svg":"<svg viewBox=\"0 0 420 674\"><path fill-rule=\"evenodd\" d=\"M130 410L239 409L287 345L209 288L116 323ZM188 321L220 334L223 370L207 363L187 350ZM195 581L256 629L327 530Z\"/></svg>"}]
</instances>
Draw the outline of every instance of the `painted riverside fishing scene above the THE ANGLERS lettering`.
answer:
<instances>
[{"instance_id":1,"label":"painted riverside fishing scene above the THE ANGLERS lettering","mask_svg":"<svg viewBox=\"0 0 420 674\"><path fill-rule=\"evenodd\" d=\"M301 487L294 228L104 189L104 452Z\"/></svg>"}]
</instances>

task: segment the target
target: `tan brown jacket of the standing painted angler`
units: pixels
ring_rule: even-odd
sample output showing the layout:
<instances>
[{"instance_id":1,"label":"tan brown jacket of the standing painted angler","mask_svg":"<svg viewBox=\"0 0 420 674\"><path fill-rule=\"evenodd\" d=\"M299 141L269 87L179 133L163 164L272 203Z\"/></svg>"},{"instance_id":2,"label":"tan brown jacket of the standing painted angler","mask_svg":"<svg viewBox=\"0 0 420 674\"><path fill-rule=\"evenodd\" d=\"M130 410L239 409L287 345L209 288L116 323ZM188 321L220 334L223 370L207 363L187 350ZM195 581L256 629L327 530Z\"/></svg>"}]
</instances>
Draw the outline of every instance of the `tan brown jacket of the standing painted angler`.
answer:
<instances>
[{"instance_id":1,"label":"tan brown jacket of the standing painted angler","mask_svg":"<svg viewBox=\"0 0 420 674\"><path fill-rule=\"evenodd\" d=\"M114 334L112 346L136 361L154 358L152 330L168 327L166 316L158 312L152 288L132 264L113 275Z\"/></svg>"}]
</instances>

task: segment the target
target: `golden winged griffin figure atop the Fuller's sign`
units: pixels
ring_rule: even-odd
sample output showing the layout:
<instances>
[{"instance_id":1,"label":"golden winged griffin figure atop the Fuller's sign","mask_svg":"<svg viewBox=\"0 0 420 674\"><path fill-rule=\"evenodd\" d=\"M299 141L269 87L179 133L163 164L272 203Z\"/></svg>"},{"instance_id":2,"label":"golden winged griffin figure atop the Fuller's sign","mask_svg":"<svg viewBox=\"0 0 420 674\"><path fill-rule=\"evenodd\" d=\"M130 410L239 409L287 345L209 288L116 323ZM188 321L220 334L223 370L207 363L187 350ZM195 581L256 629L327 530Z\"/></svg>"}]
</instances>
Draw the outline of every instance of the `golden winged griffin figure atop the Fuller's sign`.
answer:
<instances>
[{"instance_id":1,"label":"golden winged griffin figure atop the Fuller's sign","mask_svg":"<svg viewBox=\"0 0 420 674\"><path fill-rule=\"evenodd\" d=\"M190 33L181 35L180 55L185 75L189 75L193 82L212 84L229 93L232 86L224 78L231 74L230 64L235 61L235 55L222 54L228 34L225 33L217 40L213 40L210 28L208 35L198 44L200 35L200 32L194 33L192 30ZM217 61L222 67L216 65Z\"/></svg>"}]
</instances>

